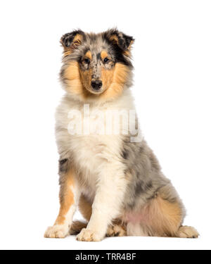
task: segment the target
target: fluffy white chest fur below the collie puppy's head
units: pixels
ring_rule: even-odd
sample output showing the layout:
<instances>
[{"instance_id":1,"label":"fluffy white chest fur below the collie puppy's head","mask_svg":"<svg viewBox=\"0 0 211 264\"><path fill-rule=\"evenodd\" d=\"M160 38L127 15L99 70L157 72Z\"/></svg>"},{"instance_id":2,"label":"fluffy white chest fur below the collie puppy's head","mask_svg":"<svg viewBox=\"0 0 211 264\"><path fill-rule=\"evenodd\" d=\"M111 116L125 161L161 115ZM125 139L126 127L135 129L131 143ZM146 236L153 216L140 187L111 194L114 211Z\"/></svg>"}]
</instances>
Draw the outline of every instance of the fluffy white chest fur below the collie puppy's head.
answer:
<instances>
[{"instance_id":1,"label":"fluffy white chest fur below the collie puppy's head","mask_svg":"<svg viewBox=\"0 0 211 264\"><path fill-rule=\"evenodd\" d=\"M129 111L131 108L131 96L125 93L117 101L102 105L84 105L65 97L57 109L58 152L63 158L72 158L91 189L94 189L102 171L120 165L125 136L122 130L114 133L113 125L110 127L108 111Z\"/></svg>"}]
</instances>

